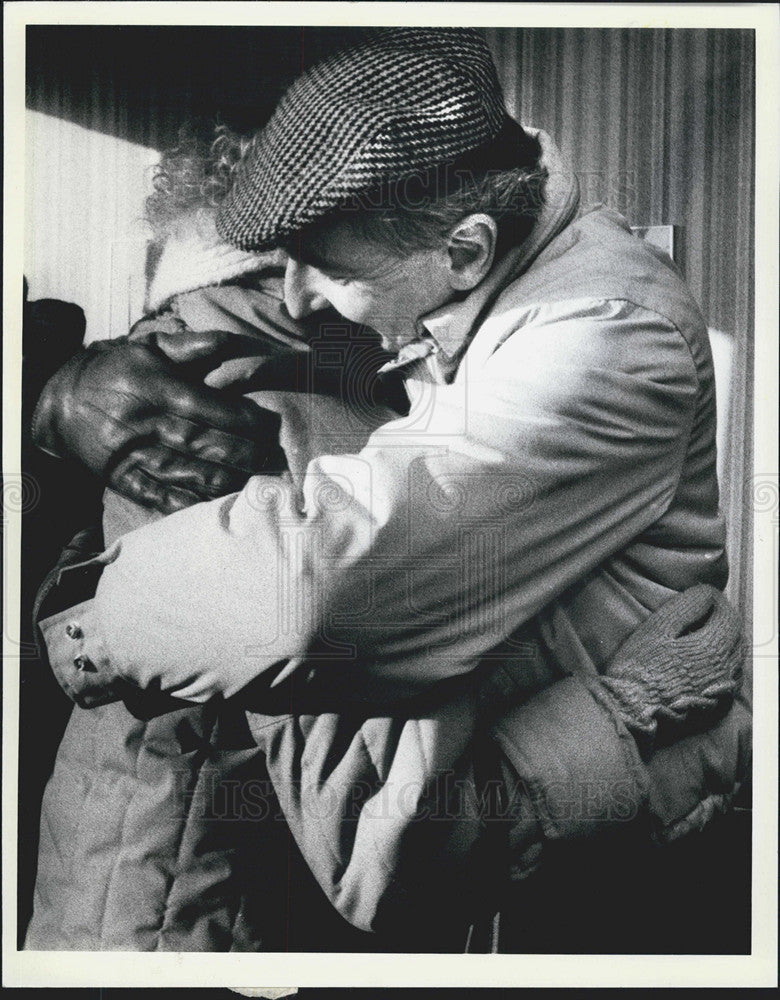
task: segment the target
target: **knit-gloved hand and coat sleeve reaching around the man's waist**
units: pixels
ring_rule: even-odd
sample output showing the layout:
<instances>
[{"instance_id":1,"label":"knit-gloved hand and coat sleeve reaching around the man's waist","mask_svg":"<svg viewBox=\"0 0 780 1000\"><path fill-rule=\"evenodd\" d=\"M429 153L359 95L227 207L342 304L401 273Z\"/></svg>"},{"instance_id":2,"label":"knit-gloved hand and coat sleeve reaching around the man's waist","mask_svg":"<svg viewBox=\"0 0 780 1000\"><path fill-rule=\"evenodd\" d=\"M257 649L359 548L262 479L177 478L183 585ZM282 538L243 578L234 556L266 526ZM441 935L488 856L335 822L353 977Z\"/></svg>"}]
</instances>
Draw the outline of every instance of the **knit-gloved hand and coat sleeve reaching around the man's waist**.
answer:
<instances>
[{"instance_id":1,"label":"knit-gloved hand and coat sleeve reaching around the man's waist","mask_svg":"<svg viewBox=\"0 0 780 1000\"><path fill-rule=\"evenodd\" d=\"M700 584L653 612L604 674L550 678L512 703L511 687L488 673L507 802L499 815L518 877L541 863L548 842L619 828L649 834L644 820L633 824L648 815L663 839L706 822L701 804L738 787L749 763L745 706L728 711L745 654L736 611Z\"/></svg>"}]
</instances>

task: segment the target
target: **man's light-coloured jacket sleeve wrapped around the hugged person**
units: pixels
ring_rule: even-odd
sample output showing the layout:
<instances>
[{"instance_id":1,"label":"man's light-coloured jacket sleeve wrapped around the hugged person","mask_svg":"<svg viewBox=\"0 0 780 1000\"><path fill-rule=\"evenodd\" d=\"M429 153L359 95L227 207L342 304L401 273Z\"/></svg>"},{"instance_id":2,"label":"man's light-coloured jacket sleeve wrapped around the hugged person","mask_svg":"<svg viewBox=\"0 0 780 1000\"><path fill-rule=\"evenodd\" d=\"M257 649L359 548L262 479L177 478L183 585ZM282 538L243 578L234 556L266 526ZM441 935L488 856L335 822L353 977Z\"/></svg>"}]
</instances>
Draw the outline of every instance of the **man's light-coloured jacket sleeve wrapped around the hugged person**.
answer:
<instances>
[{"instance_id":1,"label":"man's light-coloured jacket sleeve wrapped around the hugged person","mask_svg":"<svg viewBox=\"0 0 780 1000\"><path fill-rule=\"evenodd\" d=\"M286 478L256 476L126 535L81 610L83 655L94 644L129 683L193 701L293 676L392 701L468 673L673 496L696 396L687 347L658 332L664 381L611 370L604 326L578 322L576 365L560 324L552 341L538 331L533 365L510 341L469 381L468 426L464 386L436 386L424 435L412 413L357 455L316 459L302 503Z\"/></svg>"}]
</instances>

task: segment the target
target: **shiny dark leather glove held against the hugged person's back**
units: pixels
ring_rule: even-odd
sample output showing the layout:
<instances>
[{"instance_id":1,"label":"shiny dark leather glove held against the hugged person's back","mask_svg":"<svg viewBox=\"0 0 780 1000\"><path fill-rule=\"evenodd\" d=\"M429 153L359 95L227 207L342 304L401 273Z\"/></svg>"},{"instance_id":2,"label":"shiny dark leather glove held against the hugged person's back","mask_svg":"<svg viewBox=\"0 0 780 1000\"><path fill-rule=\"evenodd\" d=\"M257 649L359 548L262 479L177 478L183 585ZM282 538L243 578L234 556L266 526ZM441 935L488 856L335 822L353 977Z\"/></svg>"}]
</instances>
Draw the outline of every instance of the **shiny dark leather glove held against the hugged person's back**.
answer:
<instances>
[{"instance_id":1,"label":"shiny dark leather glove held against the hugged person's back","mask_svg":"<svg viewBox=\"0 0 780 1000\"><path fill-rule=\"evenodd\" d=\"M97 341L46 384L33 439L163 513L240 490L252 475L285 468L280 418L202 380L250 345L227 333L165 330Z\"/></svg>"}]
</instances>

